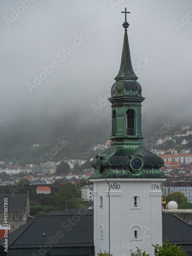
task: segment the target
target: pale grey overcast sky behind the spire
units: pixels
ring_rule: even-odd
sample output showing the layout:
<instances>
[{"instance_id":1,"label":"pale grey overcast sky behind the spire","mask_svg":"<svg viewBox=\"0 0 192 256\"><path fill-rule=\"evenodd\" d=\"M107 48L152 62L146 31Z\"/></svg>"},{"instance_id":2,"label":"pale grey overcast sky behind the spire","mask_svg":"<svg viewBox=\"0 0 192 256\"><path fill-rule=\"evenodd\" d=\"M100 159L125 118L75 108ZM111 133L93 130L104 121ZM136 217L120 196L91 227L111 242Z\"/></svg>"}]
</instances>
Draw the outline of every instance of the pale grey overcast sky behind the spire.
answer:
<instances>
[{"instance_id":1,"label":"pale grey overcast sky behind the spire","mask_svg":"<svg viewBox=\"0 0 192 256\"><path fill-rule=\"evenodd\" d=\"M109 98L119 71L126 7L132 65L145 97L143 117L157 113L191 123L192 1L0 3L0 119L76 109L83 118L111 115L110 103L99 99Z\"/></svg>"}]
</instances>

